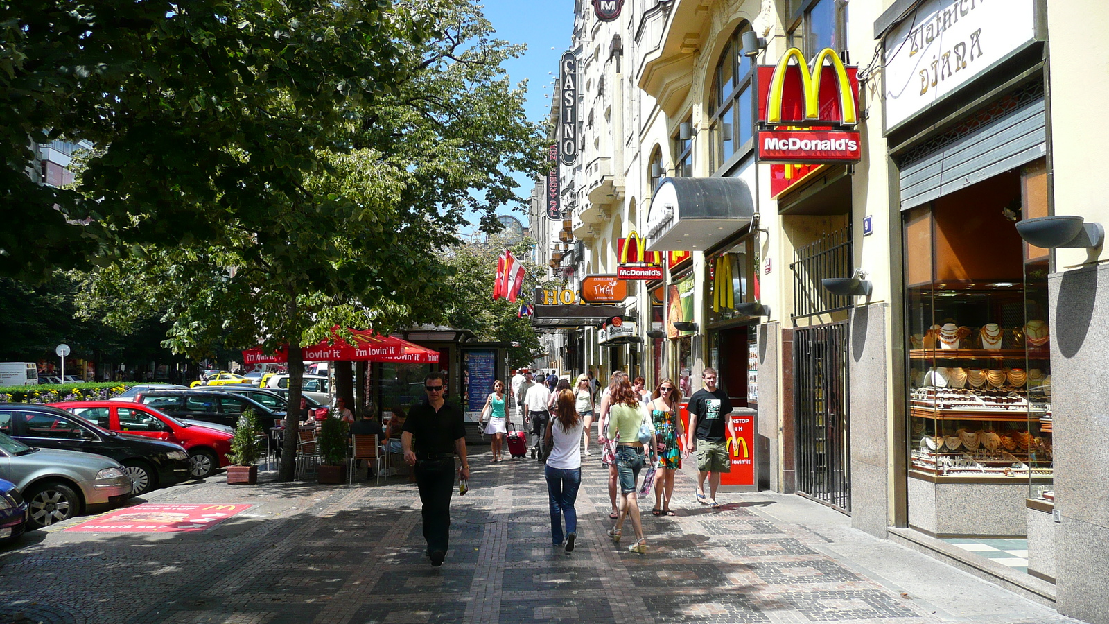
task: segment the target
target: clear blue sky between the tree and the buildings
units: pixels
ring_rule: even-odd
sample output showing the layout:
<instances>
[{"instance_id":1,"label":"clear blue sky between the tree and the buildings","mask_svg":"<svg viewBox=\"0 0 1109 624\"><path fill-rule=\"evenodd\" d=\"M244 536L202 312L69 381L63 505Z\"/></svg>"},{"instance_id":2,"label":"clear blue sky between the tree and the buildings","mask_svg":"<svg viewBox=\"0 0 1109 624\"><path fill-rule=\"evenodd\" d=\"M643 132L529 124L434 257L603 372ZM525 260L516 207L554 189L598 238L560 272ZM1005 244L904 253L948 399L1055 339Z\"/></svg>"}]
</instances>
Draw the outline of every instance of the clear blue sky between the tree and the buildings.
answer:
<instances>
[{"instance_id":1,"label":"clear blue sky between the tree and the buildings","mask_svg":"<svg viewBox=\"0 0 1109 624\"><path fill-rule=\"evenodd\" d=\"M482 7L499 39L528 46L522 57L509 59L505 68L512 82L528 79L525 109L529 120L539 121L550 110L550 98L543 95L550 94L559 57L570 44L573 0L485 0ZM516 180L520 184L517 194L528 197L535 181L519 174ZM511 214L525 228L528 225L527 214L510 208L502 208L498 214Z\"/></svg>"}]
</instances>

